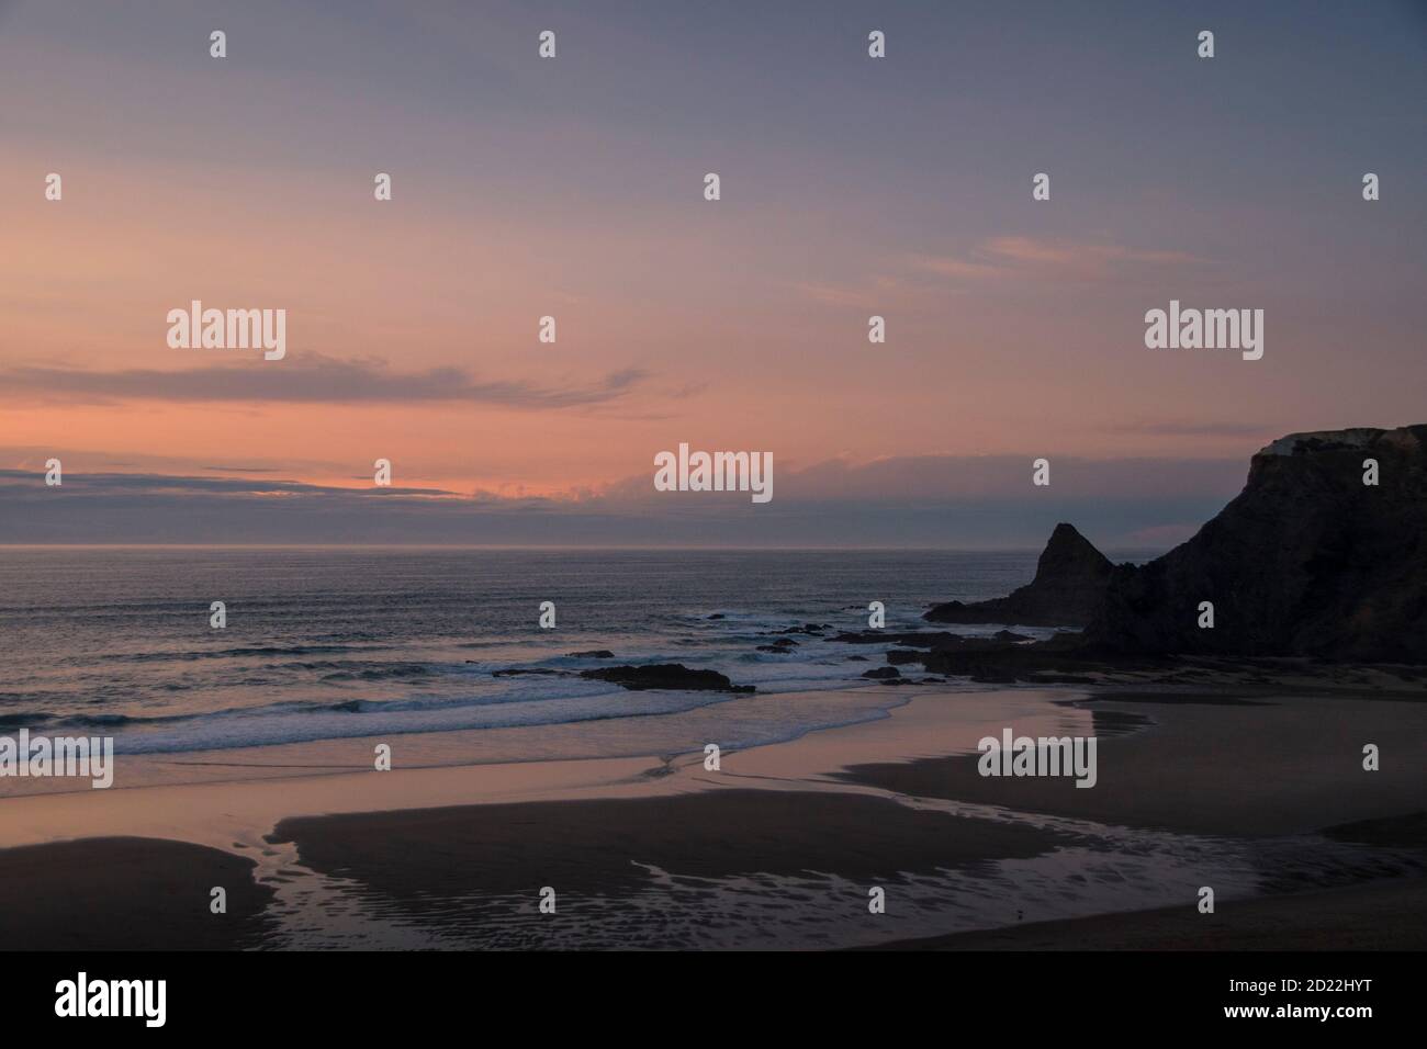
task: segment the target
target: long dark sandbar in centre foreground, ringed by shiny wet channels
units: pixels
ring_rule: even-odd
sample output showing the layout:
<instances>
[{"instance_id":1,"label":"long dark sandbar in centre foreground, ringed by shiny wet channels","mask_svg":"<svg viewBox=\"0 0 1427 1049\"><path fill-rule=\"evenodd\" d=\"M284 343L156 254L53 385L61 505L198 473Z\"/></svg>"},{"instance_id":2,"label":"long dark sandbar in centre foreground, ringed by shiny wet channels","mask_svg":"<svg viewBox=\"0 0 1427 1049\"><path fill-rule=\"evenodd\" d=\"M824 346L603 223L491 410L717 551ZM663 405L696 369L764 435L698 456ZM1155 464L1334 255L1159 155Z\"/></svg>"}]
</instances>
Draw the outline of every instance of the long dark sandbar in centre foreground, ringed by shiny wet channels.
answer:
<instances>
[{"instance_id":1,"label":"long dark sandbar in centre foreground, ringed by shiny wet channels","mask_svg":"<svg viewBox=\"0 0 1427 1049\"><path fill-rule=\"evenodd\" d=\"M308 816L284 819L271 841L294 842L317 871L414 898L555 882L601 895L648 885L645 866L689 878L812 872L885 882L1035 856L1069 839L866 795L715 789Z\"/></svg>"}]
</instances>

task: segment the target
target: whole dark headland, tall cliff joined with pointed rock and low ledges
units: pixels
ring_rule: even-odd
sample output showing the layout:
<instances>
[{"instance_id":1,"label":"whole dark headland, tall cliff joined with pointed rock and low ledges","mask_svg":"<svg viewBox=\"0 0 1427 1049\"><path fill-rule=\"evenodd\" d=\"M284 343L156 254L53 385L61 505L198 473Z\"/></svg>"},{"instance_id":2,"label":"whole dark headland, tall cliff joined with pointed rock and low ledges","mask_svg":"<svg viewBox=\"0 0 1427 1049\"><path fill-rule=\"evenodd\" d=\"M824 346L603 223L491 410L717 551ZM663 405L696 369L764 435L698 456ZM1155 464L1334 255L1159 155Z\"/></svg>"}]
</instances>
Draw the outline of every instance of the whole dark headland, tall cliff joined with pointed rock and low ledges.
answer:
<instances>
[{"instance_id":1,"label":"whole dark headland, tall cliff joined with pointed rock and low ledges","mask_svg":"<svg viewBox=\"0 0 1427 1049\"><path fill-rule=\"evenodd\" d=\"M902 639L930 672L986 681L1184 659L1386 664L1418 679L1408 668L1427 664L1427 425L1290 434L1260 450L1243 491L1163 557L1112 565L1059 524L1030 584L923 618L1066 628L1042 642Z\"/></svg>"}]
</instances>

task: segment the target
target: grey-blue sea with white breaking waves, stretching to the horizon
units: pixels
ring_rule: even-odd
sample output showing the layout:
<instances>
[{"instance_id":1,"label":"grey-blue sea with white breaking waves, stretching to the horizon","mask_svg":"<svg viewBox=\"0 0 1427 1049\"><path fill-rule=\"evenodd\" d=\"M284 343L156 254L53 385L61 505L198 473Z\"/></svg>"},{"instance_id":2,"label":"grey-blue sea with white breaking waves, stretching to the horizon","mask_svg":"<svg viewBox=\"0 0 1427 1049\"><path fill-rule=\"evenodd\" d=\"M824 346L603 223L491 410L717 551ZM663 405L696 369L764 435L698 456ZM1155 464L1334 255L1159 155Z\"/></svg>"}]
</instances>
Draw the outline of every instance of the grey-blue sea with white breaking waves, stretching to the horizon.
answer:
<instances>
[{"instance_id":1,"label":"grey-blue sea with white breaking waves, stretching to the horizon","mask_svg":"<svg viewBox=\"0 0 1427 1049\"><path fill-rule=\"evenodd\" d=\"M626 691L562 674L681 662L759 695L865 686L858 651L803 624L925 625L926 605L1009 592L1035 551L541 551L451 548L0 549L0 731L114 736L171 754L678 714L721 692ZM227 625L210 627L223 601ZM555 627L538 625L541 602ZM718 618L714 618L718 617ZM993 628L958 628L968 634ZM1047 631L1029 631L1043 635ZM574 652L609 649L614 659ZM888 689L892 691L892 689ZM786 708L732 746L855 721ZM648 746L625 739L624 748ZM655 741L675 745L671 741ZM608 744L605 749L608 751ZM645 749L644 752L649 752ZM592 755L592 756L598 756Z\"/></svg>"}]
</instances>

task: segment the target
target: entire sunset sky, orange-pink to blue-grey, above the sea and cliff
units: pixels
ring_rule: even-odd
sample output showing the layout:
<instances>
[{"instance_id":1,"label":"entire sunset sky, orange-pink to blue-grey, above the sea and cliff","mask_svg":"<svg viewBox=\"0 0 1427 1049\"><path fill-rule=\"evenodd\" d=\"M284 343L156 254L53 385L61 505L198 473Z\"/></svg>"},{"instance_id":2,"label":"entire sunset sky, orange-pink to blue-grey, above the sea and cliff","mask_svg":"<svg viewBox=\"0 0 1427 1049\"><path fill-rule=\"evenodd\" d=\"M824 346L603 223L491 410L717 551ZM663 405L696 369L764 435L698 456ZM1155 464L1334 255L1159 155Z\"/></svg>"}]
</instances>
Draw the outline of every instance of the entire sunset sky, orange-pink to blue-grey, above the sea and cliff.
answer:
<instances>
[{"instance_id":1,"label":"entire sunset sky, orange-pink to blue-grey, above the sea and cliff","mask_svg":"<svg viewBox=\"0 0 1427 1049\"><path fill-rule=\"evenodd\" d=\"M1172 545L1427 421L1424 59L1408 0L0 0L0 542Z\"/></svg>"}]
</instances>

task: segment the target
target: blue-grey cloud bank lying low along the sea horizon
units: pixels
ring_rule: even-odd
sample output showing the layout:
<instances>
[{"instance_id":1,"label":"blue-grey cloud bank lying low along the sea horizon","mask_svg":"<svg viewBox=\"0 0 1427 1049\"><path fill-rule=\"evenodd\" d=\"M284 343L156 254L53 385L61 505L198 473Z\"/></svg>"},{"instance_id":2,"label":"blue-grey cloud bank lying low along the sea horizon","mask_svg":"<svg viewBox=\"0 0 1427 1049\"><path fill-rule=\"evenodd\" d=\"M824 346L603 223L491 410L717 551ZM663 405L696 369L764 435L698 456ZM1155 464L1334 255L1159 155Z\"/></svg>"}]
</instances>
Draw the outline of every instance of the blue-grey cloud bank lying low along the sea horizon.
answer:
<instances>
[{"instance_id":1,"label":"blue-grey cloud bank lying low along the sea horizon","mask_svg":"<svg viewBox=\"0 0 1427 1049\"><path fill-rule=\"evenodd\" d=\"M775 498L656 492L652 468L598 491L524 495L360 488L253 477L0 470L0 542L308 542L1037 548L1057 521L1103 547L1144 547L1209 520L1243 484L1233 460L918 455L778 464ZM1126 542L1133 537L1133 542Z\"/></svg>"}]
</instances>

